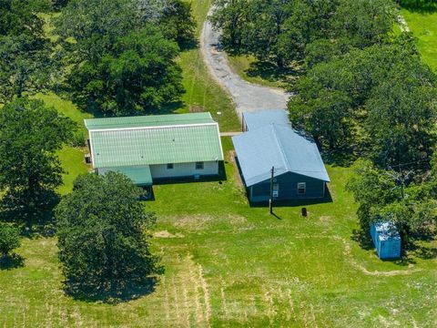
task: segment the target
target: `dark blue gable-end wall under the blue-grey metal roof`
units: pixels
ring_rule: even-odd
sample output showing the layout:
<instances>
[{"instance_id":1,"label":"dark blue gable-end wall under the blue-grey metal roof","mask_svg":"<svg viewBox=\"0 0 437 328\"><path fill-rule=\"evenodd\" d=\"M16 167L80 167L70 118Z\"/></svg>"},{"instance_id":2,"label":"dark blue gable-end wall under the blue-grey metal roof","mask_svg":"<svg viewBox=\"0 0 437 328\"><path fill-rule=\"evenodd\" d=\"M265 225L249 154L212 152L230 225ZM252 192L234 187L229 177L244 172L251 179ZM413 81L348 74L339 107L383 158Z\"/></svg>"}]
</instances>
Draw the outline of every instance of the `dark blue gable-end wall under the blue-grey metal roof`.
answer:
<instances>
[{"instance_id":1,"label":"dark blue gable-end wall under the blue-grey metal roof","mask_svg":"<svg viewBox=\"0 0 437 328\"><path fill-rule=\"evenodd\" d=\"M285 173L275 177L275 183L279 184L279 197L275 200L309 200L323 198L325 196L325 181L305 177L296 173ZM298 193L298 183L306 183L305 194ZM270 195L270 180L259 182L249 187L249 199L251 201L267 201Z\"/></svg>"}]
</instances>

